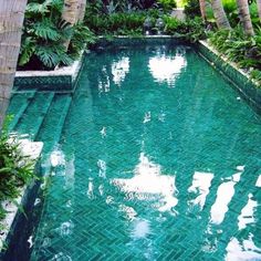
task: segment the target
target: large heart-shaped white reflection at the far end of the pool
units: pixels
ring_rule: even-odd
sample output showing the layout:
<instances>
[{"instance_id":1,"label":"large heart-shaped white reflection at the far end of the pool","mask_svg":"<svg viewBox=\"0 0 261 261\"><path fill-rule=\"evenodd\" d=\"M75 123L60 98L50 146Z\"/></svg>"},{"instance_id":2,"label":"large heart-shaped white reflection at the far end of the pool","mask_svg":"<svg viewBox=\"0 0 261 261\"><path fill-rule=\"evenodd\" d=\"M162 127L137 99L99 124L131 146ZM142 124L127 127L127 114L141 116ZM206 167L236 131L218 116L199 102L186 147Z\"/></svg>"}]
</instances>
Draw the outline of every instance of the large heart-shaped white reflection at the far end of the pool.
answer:
<instances>
[{"instance_id":1,"label":"large heart-shaped white reflection at the far end of the pool","mask_svg":"<svg viewBox=\"0 0 261 261\"><path fill-rule=\"evenodd\" d=\"M159 83L167 82L169 85L175 83L176 77L185 66L187 66L187 61L180 54L174 58L157 55L150 58L148 62L148 67L154 79Z\"/></svg>"}]
</instances>

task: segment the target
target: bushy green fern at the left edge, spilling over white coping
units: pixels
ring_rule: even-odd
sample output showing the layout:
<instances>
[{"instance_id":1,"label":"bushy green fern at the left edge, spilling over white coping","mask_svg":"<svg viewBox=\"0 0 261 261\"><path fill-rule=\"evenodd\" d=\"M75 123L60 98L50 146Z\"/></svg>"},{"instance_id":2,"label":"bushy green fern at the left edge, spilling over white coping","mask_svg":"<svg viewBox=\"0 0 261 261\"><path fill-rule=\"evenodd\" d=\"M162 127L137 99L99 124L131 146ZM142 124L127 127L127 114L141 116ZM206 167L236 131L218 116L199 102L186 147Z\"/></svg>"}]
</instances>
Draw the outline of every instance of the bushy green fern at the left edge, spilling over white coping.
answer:
<instances>
[{"instance_id":1,"label":"bushy green fern at the left edge, spilling over white coping","mask_svg":"<svg viewBox=\"0 0 261 261\"><path fill-rule=\"evenodd\" d=\"M19 142L10 139L4 125L0 136L0 219L6 217L3 200L14 200L21 186L30 182L35 176L33 161L21 153Z\"/></svg>"}]
</instances>

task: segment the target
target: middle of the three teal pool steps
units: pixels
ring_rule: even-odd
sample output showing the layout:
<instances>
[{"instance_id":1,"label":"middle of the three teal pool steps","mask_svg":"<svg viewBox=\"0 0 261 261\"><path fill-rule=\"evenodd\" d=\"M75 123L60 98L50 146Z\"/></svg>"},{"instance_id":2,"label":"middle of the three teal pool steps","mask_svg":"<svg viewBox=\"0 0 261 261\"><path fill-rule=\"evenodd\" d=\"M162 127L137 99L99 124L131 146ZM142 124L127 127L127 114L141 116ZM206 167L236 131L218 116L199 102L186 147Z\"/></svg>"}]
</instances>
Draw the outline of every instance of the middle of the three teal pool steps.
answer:
<instances>
[{"instance_id":1,"label":"middle of the three teal pool steps","mask_svg":"<svg viewBox=\"0 0 261 261\"><path fill-rule=\"evenodd\" d=\"M53 101L54 93L36 93L14 127L20 135L34 140Z\"/></svg>"}]
</instances>

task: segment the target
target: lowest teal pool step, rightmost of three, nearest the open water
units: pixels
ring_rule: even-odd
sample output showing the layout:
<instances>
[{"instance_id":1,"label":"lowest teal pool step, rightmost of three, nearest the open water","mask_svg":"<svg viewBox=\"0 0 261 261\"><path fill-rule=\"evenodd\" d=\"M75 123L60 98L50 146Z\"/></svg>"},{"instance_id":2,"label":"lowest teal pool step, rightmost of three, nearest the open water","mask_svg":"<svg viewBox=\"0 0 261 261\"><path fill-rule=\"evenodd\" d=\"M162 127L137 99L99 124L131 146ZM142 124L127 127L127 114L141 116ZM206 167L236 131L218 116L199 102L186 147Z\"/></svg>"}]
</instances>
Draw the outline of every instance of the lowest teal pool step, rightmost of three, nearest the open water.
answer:
<instances>
[{"instance_id":1,"label":"lowest teal pool step, rightmost of three, nearest the open water","mask_svg":"<svg viewBox=\"0 0 261 261\"><path fill-rule=\"evenodd\" d=\"M63 130L64 122L72 102L70 94L56 94L53 98L49 113L42 124L42 127L36 136L36 140L43 142L42 174L51 173L50 156L58 145Z\"/></svg>"}]
</instances>

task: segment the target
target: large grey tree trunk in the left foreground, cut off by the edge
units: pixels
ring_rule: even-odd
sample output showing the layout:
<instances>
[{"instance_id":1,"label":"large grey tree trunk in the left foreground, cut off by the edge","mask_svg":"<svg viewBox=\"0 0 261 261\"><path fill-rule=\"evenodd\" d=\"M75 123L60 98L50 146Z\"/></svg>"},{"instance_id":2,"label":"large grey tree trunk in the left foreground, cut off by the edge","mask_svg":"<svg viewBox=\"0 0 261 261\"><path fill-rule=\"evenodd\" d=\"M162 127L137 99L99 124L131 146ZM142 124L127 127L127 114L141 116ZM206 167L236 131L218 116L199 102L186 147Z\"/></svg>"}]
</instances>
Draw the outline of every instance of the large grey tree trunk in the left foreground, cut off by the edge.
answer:
<instances>
[{"instance_id":1,"label":"large grey tree trunk in the left foreground, cut off by the edge","mask_svg":"<svg viewBox=\"0 0 261 261\"><path fill-rule=\"evenodd\" d=\"M9 105L28 0L0 0L0 129Z\"/></svg>"}]
</instances>

